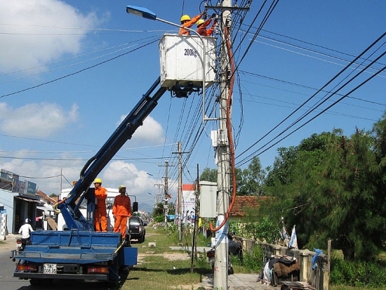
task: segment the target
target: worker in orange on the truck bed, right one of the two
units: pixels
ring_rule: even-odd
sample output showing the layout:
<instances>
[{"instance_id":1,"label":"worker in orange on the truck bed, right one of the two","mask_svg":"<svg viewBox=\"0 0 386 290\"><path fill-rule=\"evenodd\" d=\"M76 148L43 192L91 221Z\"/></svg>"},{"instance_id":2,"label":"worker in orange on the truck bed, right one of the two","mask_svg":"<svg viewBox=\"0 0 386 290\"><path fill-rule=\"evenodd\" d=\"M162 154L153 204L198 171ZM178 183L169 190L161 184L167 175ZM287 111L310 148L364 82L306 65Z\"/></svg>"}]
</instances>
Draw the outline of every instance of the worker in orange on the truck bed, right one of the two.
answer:
<instances>
[{"instance_id":1,"label":"worker in orange on the truck bed, right one of the two","mask_svg":"<svg viewBox=\"0 0 386 290\"><path fill-rule=\"evenodd\" d=\"M126 237L127 220L131 218L131 200L126 195L126 186L118 188L120 195L114 199L112 215L114 216L114 232L121 232L122 239Z\"/></svg>"}]
</instances>

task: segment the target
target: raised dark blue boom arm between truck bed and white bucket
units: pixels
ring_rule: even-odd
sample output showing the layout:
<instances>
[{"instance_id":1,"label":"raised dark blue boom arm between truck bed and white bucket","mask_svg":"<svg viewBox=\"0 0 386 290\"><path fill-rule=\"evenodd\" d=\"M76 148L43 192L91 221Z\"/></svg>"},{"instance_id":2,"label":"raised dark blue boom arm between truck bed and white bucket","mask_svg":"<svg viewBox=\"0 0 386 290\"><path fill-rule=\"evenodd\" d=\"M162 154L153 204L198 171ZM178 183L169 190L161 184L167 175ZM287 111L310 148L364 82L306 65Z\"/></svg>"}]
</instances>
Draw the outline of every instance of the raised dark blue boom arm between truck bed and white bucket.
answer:
<instances>
[{"instance_id":1,"label":"raised dark blue boom arm between truck bed and white bucket","mask_svg":"<svg viewBox=\"0 0 386 290\"><path fill-rule=\"evenodd\" d=\"M145 118L152 110L154 110L154 107L157 106L159 98L164 95L167 89L165 87L160 87L151 97L150 95L159 84L160 77L154 82L145 95L142 95L138 104L135 105L124 121L121 122L97 154L86 162L81 170L79 180L76 182L71 192L69 192L69 195L58 203L58 209L62 212L67 228L93 230L93 221L86 219L82 215L79 206L87 196L90 185L100 171L102 171L114 155L117 154L119 149L126 143L126 140L131 139L135 130L137 130L139 126L142 126Z\"/></svg>"}]
</instances>

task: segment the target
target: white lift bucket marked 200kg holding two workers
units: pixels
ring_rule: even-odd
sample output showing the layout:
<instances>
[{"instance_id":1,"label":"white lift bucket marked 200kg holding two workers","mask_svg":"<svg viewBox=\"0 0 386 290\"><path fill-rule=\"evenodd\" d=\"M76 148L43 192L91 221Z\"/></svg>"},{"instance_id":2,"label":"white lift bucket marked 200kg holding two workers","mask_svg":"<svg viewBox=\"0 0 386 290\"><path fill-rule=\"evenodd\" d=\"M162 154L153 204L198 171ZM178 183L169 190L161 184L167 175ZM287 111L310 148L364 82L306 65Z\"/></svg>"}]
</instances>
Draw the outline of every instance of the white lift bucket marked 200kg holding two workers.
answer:
<instances>
[{"instance_id":1,"label":"white lift bucket marked 200kg holding two workers","mask_svg":"<svg viewBox=\"0 0 386 290\"><path fill-rule=\"evenodd\" d=\"M205 47L204 47L205 46ZM205 51L205 57L204 57ZM202 87L215 81L216 39L179 34L164 34L159 41L161 86ZM205 63L204 63L205 62Z\"/></svg>"}]
</instances>

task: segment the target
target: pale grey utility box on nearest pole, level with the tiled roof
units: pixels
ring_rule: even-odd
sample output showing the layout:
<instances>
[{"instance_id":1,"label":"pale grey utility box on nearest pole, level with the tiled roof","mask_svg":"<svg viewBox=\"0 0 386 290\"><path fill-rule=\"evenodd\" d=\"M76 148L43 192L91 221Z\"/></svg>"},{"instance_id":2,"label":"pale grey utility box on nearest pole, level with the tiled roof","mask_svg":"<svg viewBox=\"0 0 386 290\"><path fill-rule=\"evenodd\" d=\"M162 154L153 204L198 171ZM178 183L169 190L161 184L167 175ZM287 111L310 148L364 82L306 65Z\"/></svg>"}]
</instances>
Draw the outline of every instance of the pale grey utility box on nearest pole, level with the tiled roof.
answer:
<instances>
[{"instance_id":1,"label":"pale grey utility box on nearest pole, level with the tiled roof","mask_svg":"<svg viewBox=\"0 0 386 290\"><path fill-rule=\"evenodd\" d=\"M217 216L217 183L200 181L200 216L215 218Z\"/></svg>"}]
</instances>

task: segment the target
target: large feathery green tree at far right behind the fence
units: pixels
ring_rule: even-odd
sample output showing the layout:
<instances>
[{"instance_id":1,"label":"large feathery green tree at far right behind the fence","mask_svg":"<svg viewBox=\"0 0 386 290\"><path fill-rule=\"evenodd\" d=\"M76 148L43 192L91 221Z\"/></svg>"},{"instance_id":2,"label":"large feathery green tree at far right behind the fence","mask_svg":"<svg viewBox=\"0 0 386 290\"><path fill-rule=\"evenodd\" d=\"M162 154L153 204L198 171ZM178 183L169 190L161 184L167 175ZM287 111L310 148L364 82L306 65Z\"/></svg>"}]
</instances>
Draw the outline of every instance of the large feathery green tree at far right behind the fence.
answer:
<instances>
[{"instance_id":1,"label":"large feathery green tree at far right behind the fence","mask_svg":"<svg viewBox=\"0 0 386 290\"><path fill-rule=\"evenodd\" d=\"M385 132L380 125L378 133ZM267 190L277 197L276 218L296 225L300 245L325 249L332 239L345 260L378 253L386 237L386 200L373 147L369 132L357 130L347 138L334 130L281 149Z\"/></svg>"}]
</instances>

